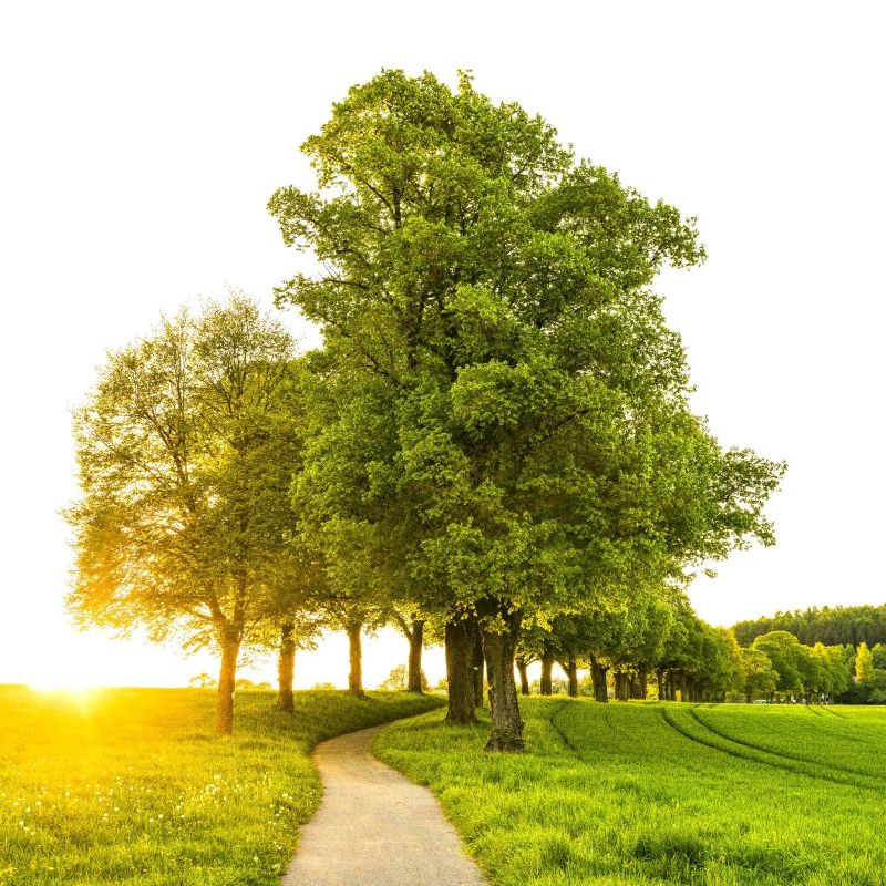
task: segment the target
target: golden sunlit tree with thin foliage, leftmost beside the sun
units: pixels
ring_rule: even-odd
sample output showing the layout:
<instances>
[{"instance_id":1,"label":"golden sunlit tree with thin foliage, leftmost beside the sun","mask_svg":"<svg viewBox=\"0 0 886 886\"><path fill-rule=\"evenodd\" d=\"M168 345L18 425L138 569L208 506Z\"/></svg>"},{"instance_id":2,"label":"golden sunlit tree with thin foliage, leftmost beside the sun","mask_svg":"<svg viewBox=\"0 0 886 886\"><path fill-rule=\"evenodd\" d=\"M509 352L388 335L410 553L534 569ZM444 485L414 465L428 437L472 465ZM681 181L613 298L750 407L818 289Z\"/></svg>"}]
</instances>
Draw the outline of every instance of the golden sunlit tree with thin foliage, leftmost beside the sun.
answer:
<instances>
[{"instance_id":1,"label":"golden sunlit tree with thin foliage, leftmost beside the sun","mask_svg":"<svg viewBox=\"0 0 886 886\"><path fill-rule=\"evenodd\" d=\"M110 354L75 415L81 499L68 511L82 622L220 652L218 732L240 648L267 614L293 522L293 342L241 296L182 311Z\"/></svg>"}]
</instances>

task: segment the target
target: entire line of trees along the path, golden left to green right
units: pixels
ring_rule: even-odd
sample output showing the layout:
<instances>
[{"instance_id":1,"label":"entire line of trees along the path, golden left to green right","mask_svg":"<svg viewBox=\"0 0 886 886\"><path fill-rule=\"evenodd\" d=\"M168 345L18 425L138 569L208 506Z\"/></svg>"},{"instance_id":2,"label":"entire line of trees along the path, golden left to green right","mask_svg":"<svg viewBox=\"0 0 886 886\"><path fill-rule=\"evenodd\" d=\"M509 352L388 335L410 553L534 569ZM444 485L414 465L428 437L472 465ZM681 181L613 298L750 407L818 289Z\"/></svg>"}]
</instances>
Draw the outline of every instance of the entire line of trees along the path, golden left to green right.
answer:
<instances>
[{"instance_id":1,"label":"entire line of trees along the path, golden left to green right","mask_svg":"<svg viewBox=\"0 0 886 886\"><path fill-rule=\"evenodd\" d=\"M650 287L704 259L694 220L467 74L383 71L302 151L316 189L269 210L316 268L276 295L322 347L299 354L235 295L109 354L75 416L71 609L215 647L222 733L244 651L278 650L291 708L321 627L347 632L358 694L365 631L402 630L416 690L442 641L447 719L485 689L491 750L523 748L533 657L611 673L618 698L650 673L664 698L719 697L741 653L686 587L773 544L784 465L690 408Z\"/></svg>"}]
</instances>

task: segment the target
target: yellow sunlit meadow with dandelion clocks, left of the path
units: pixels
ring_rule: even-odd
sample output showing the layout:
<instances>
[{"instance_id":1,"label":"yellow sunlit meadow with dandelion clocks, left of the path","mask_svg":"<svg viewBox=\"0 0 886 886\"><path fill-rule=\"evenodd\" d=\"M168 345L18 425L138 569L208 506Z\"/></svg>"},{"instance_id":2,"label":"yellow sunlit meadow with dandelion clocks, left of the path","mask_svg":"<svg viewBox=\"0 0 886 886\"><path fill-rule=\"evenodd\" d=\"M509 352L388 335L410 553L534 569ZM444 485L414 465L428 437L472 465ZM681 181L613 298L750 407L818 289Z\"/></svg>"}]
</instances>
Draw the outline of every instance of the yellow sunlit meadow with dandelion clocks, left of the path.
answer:
<instances>
[{"instance_id":1,"label":"yellow sunlit meadow with dandelion clocks, left of the path","mask_svg":"<svg viewBox=\"0 0 886 886\"><path fill-rule=\"evenodd\" d=\"M278 884L320 800L309 750L441 703L245 692L219 739L209 690L0 687L0 884Z\"/></svg>"}]
</instances>

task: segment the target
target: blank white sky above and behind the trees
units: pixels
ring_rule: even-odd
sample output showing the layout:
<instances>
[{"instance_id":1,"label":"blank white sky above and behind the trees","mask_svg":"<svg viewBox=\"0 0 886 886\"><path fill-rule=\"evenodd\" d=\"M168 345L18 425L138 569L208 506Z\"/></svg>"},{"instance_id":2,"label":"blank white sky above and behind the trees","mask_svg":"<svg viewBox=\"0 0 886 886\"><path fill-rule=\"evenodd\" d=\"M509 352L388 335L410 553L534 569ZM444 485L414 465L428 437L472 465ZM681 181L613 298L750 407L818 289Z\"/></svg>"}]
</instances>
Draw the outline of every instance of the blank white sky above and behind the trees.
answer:
<instances>
[{"instance_id":1,"label":"blank white sky above and behind the trees","mask_svg":"<svg viewBox=\"0 0 886 886\"><path fill-rule=\"evenodd\" d=\"M884 602L883 25L873 2L3 3L0 681L214 670L68 625L70 409L161 311L227 286L270 305L297 257L265 204L306 181L298 145L382 66L471 68L698 216L707 266L658 287L697 409L790 464L777 547L699 583L701 616ZM370 641L368 683L404 658L394 635ZM297 679L346 671L337 638Z\"/></svg>"}]
</instances>

